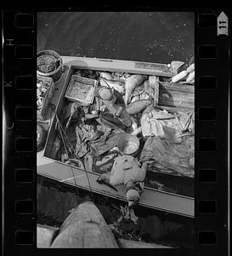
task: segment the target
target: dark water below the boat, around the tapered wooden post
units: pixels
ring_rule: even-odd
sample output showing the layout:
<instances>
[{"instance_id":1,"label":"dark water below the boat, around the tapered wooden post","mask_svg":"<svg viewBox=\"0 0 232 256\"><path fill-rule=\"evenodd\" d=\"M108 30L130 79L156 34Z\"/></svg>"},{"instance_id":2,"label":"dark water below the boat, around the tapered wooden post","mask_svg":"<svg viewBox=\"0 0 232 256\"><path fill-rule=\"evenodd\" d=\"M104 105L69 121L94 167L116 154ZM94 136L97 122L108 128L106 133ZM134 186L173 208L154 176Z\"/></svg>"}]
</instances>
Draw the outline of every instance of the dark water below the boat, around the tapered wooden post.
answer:
<instances>
[{"instance_id":1,"label":"dark water below the boat, around the tapered wooden post","mask_svg":"<svg viewBox=\"0 0 232 256\"><path fill-rule=\"evenodd\" d=\"M89 195L83 189L76 189L66 184L54 183L47 177L37 178L37 223L59 227L86 196L93 196L95 205L103 214L107 224L114 224L120 217L120 205L126 203L103 195ZM46 198L46 201L44 201ZM123 220L118 230L126 239L156 242L171 247L192 247L194 239L194 219L180 217L167 212L160 212L144 207L134 210L139 217L138 224Z\"/></svg>"}]
</instances>

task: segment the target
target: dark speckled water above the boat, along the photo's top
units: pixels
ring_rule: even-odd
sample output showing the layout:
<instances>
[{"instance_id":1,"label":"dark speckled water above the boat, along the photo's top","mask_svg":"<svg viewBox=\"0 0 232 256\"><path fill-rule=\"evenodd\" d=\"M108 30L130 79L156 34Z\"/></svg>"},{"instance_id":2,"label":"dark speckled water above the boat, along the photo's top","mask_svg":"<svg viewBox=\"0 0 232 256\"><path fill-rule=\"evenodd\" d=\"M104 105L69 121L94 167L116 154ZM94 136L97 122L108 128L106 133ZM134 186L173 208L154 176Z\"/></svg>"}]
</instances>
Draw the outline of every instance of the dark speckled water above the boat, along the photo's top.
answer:
<instances>
[{"instance_id":1,"label":"dark speckled water above the boat, along the photo's top","mask_svg":"<svg viewBox=\"0 0 232 256\"><path fill-rule=\"evenodd\" d=\"M37 49L131 61L190 61L193 13L40 13Z\"/></svg>"}]
</instances>

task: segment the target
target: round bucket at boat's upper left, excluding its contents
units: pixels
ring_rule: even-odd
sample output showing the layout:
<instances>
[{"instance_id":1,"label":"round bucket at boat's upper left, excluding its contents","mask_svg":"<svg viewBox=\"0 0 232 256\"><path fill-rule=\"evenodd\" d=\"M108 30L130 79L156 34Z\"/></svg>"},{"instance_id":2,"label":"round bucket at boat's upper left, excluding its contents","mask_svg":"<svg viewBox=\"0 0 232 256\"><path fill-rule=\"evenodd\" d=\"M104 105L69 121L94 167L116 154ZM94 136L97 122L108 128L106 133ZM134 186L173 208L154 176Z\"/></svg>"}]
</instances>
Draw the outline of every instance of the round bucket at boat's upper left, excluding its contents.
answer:
<instances>
[{"instance_id":1,"label":"round bucket at boat's upper left, excluding its contents","mask_svg":"<svg viewBox=\"0 0 232 256\"><path fill-rule=\"evenodd\" d=\"M37 74L40 76L43 76L43 77L49 77L49 78L54 79L54 83L57 82L62 76L63 61L62 61L61 57L59 56L59 54L56 51L54 51L52 49L44 49L37 53L37 57L39 57L41 55L54 55L59 60L59 67L57 67L54 71L49 72L49 73L43 73L43 72L37 70Z\"/></svg>"}]
</instances>

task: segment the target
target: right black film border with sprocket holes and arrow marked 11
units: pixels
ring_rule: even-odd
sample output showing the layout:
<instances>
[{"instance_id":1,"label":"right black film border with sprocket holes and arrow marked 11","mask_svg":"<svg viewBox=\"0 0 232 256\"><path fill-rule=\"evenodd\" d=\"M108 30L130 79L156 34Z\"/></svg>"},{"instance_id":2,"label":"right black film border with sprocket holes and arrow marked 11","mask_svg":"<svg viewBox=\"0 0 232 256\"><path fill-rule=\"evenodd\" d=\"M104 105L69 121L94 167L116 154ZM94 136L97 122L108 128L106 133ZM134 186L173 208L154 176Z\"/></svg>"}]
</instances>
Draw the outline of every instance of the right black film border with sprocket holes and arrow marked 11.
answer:
<instances>
[{"instance_id":1,"label":"right black film border with sprocket holes and arrow marked 11","mask_svg":"<svg viewBox=\"0 0 232 256\"><path fill-rule=\"evenodd\" d=\"M227 15L195 14L195 236L202 255L229 255Z\"/></svg>"}]
</instances>

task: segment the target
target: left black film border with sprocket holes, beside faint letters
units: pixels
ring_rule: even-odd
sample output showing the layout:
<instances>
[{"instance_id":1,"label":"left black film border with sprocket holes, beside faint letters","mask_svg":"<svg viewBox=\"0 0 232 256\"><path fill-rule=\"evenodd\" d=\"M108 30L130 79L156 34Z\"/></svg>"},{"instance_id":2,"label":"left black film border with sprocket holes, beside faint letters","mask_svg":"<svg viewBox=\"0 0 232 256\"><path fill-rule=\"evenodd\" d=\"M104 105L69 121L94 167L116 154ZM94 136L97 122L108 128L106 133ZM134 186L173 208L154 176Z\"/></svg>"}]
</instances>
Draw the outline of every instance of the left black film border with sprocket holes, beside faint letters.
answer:
<instances>
[{"instance_id":1,"label":"left black film border with sprocket holes, beside faint letters","mask_svg":"<svg viewBox=\"0 0 232 256\"><path fill-rule=\"evenodd\" d=\"M36 247L35 18L28 10L2 12L4 255L26 255Z\"/></svg>"}]
</instances>

